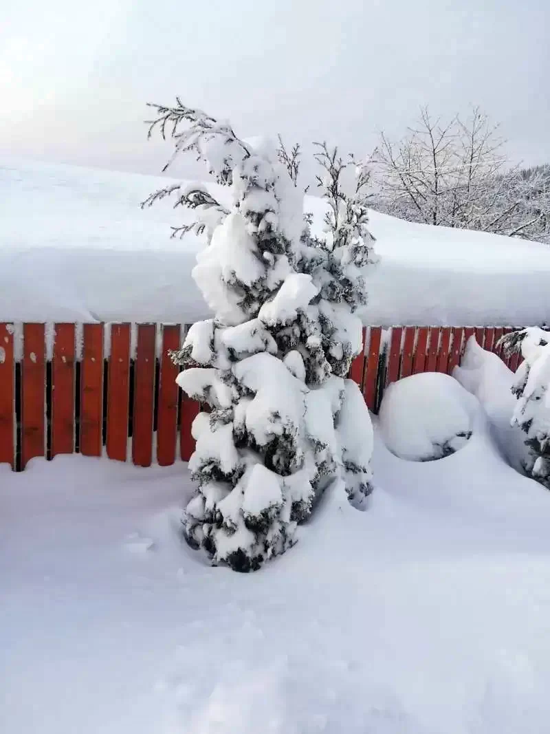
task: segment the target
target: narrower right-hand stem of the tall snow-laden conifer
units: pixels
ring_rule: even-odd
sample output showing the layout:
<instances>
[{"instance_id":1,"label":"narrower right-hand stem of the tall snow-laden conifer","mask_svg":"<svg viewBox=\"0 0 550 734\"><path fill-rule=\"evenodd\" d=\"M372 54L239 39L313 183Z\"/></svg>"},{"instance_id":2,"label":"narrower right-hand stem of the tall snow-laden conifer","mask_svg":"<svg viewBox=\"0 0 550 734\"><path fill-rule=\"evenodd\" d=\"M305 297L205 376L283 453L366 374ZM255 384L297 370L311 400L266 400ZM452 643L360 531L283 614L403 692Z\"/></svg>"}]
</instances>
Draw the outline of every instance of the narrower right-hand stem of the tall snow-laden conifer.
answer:
<instances>
[{"instance_id":1,"label":"narrower right-hand stem of the tall snow-laden conifer","mask_svg":"<svg viewBox=\"0 0 550 734\"><path fill-rule=\"evenodd\" d=\"M310 321L308 333L320 338L320 353L311 352L307 377L309 385L323 384L329 375L339 381L341 401L335 427L342 451L342 478L351 504L361 508L372 490L373 428L361 391L353 380L343 378L363 348L359 310L367 304L367 272L378 262L368 229L370 170L353 156L344 162L337 148L328 148L326 142L315 145L315 159L322 169L316 177L318 188L328 206L323 232L312 236L308 226L302 237L299 266L312 275L319 289L318 301L305 314ZM345 193L342 181L348 168L355 173L351 194Z\"/></svg>"}]
</instances>

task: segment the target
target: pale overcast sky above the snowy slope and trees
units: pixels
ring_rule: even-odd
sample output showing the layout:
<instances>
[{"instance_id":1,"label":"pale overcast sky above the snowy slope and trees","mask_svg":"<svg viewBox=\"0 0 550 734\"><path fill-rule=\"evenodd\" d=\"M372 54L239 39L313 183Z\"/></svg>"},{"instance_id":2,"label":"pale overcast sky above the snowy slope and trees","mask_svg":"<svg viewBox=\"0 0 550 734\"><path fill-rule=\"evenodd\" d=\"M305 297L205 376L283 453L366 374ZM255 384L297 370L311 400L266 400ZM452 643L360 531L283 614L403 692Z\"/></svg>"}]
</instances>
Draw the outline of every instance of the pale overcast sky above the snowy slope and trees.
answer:
<instances>
[{"instance_id":1,"label":"pale overcast sky above the snowy slope and trees","mask_svg":"<svg viewBox=\"0 0 550 734\"><path fill-rule=\"evenodd\" d=\"M2 153L158 172L145 103L359 156L479 103L550 160L548 0L1 0Z\"/></svg>"}]
</instances>

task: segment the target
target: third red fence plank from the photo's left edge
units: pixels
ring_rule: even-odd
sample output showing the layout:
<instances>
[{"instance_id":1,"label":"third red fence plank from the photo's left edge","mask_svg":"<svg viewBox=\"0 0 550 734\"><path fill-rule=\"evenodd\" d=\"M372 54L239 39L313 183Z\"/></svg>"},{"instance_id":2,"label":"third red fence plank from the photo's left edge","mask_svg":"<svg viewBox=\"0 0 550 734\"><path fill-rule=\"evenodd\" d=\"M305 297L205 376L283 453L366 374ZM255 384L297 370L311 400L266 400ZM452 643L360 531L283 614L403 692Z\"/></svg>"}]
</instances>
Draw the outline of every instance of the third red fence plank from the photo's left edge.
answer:
<instances>
[{"instance_id":1,"label":"third red fence plank from the photo's left edge","mask_svg":"<svg viewBox=\"0 0 550 734\"><path fill-rule=\"evenodd\" d=\"M51 370L51 457L75 448L75 325L56 324Z\"/></svg>"}]
</instances>

